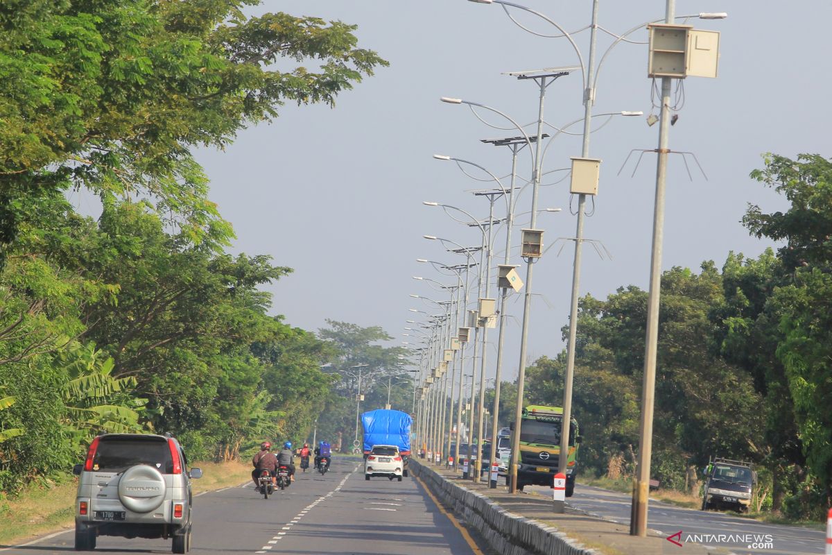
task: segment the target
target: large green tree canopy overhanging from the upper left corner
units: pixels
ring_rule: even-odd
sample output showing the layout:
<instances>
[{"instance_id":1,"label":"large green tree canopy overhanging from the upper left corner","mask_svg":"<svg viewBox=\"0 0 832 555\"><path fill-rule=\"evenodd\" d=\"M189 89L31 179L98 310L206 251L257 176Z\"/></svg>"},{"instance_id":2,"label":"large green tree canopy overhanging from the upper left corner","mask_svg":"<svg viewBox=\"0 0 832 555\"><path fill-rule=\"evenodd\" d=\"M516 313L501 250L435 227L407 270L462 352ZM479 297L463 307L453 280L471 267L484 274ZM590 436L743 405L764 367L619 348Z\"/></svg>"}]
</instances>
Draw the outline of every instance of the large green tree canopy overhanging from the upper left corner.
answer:
<instances>
[{"instance_id":1,"label":"large green tree canopy overhanging from the upper left corner","mask_svg":"<svg viewBox=\"0 0 832 555\"><path fill-rule=\"evenodd\" d=\"M354 26L241 11L258 4L0 6L0 245L17 234L15 200L70 186L145 198L193 240L227 240L191 149L224 147L284 102L333 106L387 65Z\"/></svg>"}]
</instances>

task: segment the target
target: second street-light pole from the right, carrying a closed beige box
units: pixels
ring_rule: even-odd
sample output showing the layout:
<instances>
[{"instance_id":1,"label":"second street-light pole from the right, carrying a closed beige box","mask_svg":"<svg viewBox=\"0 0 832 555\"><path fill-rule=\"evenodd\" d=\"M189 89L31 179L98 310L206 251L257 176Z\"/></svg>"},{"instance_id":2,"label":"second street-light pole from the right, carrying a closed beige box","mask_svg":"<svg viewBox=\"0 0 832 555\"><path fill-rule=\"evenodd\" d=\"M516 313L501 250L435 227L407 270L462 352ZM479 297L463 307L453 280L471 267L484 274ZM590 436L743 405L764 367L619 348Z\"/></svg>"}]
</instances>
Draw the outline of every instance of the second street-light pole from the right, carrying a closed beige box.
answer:
<instances>
[{"instance_id":1,"label":"second street-light pole from the right, carrying a closed beige box","mask_svg":"<svg viewBox=\"0 0 832 555\"><path fill-rule=\"evenodd\" d=\"M598 28L598 0L592 2L592 31L589 42L587 64L587 88L583 95L583 146L581 156L589 156L589 137L592 133L592 105L595 103L595 89L592 87L595 69L595 45ZM572 263L572 299L569 305L569 339L567 340L567 372L563 380L563 416L561 424L561 446L557 457L557 471L567 473L569 457L569 428L572 424L572 379L575 375L575 343L577 337L577 301L581 287L581 258L583 247L584 207L586 195L579 195L577 201L577 225L575 229L575 259Z\"/></svg>"}]
</instances>

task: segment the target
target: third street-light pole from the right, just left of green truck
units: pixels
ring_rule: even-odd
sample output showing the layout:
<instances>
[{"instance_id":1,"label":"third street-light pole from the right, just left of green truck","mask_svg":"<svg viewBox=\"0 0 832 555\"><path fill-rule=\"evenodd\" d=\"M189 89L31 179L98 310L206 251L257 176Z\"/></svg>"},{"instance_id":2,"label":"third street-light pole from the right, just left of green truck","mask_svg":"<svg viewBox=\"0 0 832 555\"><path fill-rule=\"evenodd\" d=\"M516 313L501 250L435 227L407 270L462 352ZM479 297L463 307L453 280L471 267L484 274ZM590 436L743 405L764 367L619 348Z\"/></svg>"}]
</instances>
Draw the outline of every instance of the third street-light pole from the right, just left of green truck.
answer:
<instances>
[{"instance_id":1,"label":"third street-light pole from the right, just left of green truck","mask_svg":"<svg viewBox=\"0 0 832 555\"><path fill-rule=\"evenodd\" d=\"M534 151L534 171L532 172L532 229L537 223L537 189L540 184L540 144L543 133L543 100L546 97L546 77L540 79L540 102L537 106L537 142ZM532 270L534 259L526 260L526 292L523 295L522 328L520 336L520 368L518 369L518 399L514 407L514 430L512 433L512 463L509 468L511 476L511 493L518 491L518 458L520 457L520 420L522 418L522 394L526 379L526 343L528 339L528 319L532 307Z\"/></svg>"}]
</instances>

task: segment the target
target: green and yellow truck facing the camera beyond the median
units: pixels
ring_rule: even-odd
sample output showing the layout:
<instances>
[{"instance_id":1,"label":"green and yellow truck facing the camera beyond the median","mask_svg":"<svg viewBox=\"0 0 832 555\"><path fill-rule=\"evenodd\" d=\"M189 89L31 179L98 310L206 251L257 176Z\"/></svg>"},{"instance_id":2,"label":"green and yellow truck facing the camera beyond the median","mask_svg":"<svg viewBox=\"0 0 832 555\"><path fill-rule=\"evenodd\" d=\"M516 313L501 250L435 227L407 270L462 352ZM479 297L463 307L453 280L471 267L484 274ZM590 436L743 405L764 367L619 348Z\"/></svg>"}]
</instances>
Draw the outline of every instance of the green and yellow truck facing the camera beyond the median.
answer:
<instances>
[{"instance_id":1,"label":"green and yellow truck facing the camera beyond the median","mask_svg":"<svg viewBox=\"0 0 832 555\"><path fill-rule=\"evenodd\" d=\"M542 404L530 404L522 410L520 425L520 458L518 460L518 489L527 485L552 486L554 476L567 476L567 497L572 497L577 474L577 444L581 443L577 421L569 426L567 468L557 468L561 453L563 409ZM513 423L512 423L513 424ZM512 429L515 427L512 425ZM515 453L512 453L512 457ZM506 476L506 483L510 478Z\"/></svg>"}]
</instances>

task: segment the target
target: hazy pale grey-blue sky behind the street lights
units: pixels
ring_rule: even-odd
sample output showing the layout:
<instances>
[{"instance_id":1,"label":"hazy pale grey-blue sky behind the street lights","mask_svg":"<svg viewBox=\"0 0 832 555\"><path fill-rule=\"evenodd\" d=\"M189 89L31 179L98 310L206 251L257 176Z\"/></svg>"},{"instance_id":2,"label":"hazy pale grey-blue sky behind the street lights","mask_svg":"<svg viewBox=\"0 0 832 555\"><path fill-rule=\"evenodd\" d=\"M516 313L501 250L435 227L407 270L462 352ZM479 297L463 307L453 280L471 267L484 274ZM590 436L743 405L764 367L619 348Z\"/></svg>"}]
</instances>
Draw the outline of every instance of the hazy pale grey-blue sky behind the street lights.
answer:
<instances>
[{"instance_id":1,"label":"hazy pale grey-blue sky behind the street lights","mask_svg":"<svg viewBox=\"0 0 832 555\"><path fill-rule=\"evenodd\" d=\"M528 7L570 33L586 63L592 1L528 1ZM763 165L765 152L829 155L823 123L832 119L832 108L824 37L832 4L812 2L811 12L808 7L808 2L788 7L729 0L676 2L677 15L727 12L728 18L688 22L721 32L721 58L716 79L687 78L677 97L679 117L671 127L670 147L691 152L696 160L680 154L670 158L664 269L698 270L703 260L714 260L721 267L730 250L759 255L772 244L751 237L740 225L746 207L750 203L776 211L785 209L786 203L775 191L751 180L750 171ZM453 163L432 155L473 161L497 176L508 176L510 151L480 140L518 135L493 129L468 107L439 98L458 97L494 107L525 125L537 120L537 85L504 73L576 66L577 54L563 37L538 37L518 27L497 4L266 0L259 8L265 11L356 24L359 45L379 52L390 67L379 68L374 77L343 92L334 109L287 105L272 124L241 131L225 151L200 151L197 159L210 177L210 196L234 225L235 252L271 255L275 264L295 269L266 287L274 294L273 314L285 315L290 325L312 331L326 327L327 319L380 326L395 338L389 346L399 344L409 339L401 335L407 333L406 320L414 320L409 309L438 311L431 302L409 295L448 298L412 276L455 283L455 277L417 259L449 265L463 262L423 235L466 246L481 242L478 228L454 221L423 201L457 206L487 219L488 201L471 191L497 186L475 181ZM602 30L619 34L641 22L663 19L664 13L665 2L659 0L601 0L598 22ZM512 14L533 32L557 34L542 19L524 12ZM598 33L596 62L614 40L604 31ZM591 216L584 237L598 241L612 257L601 257L585 245L580 290L597 298L626 285L646 290L649 282L656 179L656 155L651 151L657 146L659 126L646 124L653 87L646 75L646 31L633 33L631 40L644 43L619 43L604 57L593 107L595 114L644 112L639 117L612 117L591 136L589 156L601 158L602 166L599 193L587 201ZM547 88L544 109L546 132L552 135L567 122L582 118L579 72ZM489 123L506 126L488 112L479 113ZM606 119L593 121L598 127ZM525 129L532 133L534 126ZM580 131L580 124L570 130ZM642 150L648 152L636 166ZM575 235L577 198L570 198L568 178L556 170L569 166L569 156L580 155L581 137L562 133L552 140L542 162L543 171L552 173L542 180L538 207L562 211L537 219L537 227L545 230L545 245L553 246L535 265L528 361L553 357L565 347L561 330L569 312L573 246L567 242L561 249L563 241L558 238ZM521 155L518 176L530 179L531 168L530 157ZM505 215L504 206L498 203L495 208L498 217ZM516 211L530 209L527 188ZM462 213L454 217L467 220ZM527 222L528 216L518 216L514 245ZM495 254L501 259L504 228L495 227ZM498 262L502 260L494 260L493 265ZM522 263L516 250L512 263ZM524 279L525 270L520 273ZM522 295L509 300L508 316L503 379L513 379L518 371ZM496 330L490 332L488 375L494 372L496 337Z\"/></svg>"}]
</instances>

